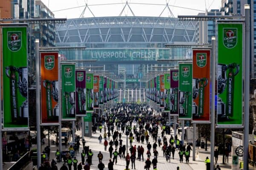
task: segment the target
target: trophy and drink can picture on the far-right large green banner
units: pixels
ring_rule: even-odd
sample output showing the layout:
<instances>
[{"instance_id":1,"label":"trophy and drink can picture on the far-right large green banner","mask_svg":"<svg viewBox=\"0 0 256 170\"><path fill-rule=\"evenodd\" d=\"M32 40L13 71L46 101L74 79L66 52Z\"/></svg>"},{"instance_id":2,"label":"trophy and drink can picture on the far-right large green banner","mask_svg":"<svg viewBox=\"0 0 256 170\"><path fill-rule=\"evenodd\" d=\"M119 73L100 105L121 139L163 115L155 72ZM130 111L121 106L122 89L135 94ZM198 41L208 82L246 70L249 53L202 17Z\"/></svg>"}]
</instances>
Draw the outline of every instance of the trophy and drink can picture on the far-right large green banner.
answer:
<instances>
[{"instance_id":1,"label":"trophy and drink can picture on the far-right large green banner","mask_svg":"<svg viewBox=\"0 0 256 170\"><path fill-rule=\"evenodd\" d=\"M223 101L218 95L218 118L229 119L229 116L233 116L234 81L238 73L239 65L236 63L218 64L218 94L222 94L226 90L226 101Z\"/></svg>"}]
</instances>

